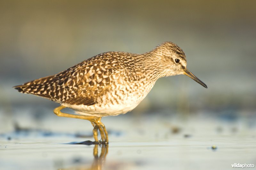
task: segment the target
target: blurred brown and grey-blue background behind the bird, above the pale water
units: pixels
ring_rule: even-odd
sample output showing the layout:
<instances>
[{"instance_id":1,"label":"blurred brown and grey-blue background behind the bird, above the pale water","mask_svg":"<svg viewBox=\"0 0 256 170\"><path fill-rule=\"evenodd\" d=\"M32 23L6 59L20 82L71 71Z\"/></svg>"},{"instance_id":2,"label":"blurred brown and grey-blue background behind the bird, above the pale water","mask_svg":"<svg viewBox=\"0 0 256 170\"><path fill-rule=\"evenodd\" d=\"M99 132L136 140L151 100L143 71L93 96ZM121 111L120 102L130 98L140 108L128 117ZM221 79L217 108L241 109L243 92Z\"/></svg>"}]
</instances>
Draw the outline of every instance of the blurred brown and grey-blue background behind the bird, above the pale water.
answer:
<instances>
[{"instance_id":1,"label":"blurred brown and grey-blue background behind the bird, above the pale water","mask_svg":"<svg viewBox=\"0 0 256 170\"><path fill-rule=\"evenodd\" d=\"M58 104L12 86L102 52L144 53L164 41L184 50L187 68L208 89L184 75L160 78L136 109L113 120L203 115L215 117L213 124L242 120L255 128L255 7L253 0L1 1L0 132L15 123L47 129L64 119L78 122L55 116ZM106 120L108 128L111 118ZM90 122L83 123L90 132Z\"/></svg>"}]
</instances>

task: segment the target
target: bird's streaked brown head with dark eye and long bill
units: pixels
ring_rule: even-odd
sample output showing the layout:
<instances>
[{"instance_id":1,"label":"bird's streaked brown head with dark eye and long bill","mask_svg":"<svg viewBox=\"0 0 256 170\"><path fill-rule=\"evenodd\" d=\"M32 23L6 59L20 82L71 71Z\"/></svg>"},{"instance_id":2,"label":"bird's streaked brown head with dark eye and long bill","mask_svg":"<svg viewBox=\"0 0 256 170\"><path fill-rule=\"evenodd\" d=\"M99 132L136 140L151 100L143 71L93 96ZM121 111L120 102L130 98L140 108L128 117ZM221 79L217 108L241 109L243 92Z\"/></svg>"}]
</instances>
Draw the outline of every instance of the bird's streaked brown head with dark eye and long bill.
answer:
<instances>
[{"instance_id":1,"label":"bird's streaked brown head with dark eye and long bill","mask_svg":"<svg viewBox=\"0 0 256 170\"><path fill-rule=\"evenodd\" d=\"M186 55L176 44L172 42L164 42L151 52L160 58L164 76L184 74L207 88L207 85L187 69Z\"/></svg>"}]
</instances>

